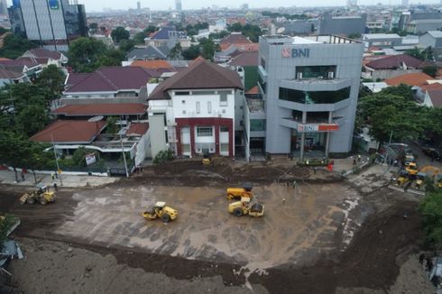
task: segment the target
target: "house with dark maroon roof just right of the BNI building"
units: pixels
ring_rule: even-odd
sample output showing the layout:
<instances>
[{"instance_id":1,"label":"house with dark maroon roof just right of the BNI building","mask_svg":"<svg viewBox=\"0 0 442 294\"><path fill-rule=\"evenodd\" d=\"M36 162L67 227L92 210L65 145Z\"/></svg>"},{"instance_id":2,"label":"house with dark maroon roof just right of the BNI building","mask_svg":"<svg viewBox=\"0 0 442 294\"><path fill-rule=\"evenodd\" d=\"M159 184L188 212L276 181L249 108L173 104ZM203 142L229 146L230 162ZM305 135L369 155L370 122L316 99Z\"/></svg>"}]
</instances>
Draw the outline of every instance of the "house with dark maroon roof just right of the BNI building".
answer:
<instances>
[{"instance_id":1,"label":"house with dark maroon roof just right of the BNI building","mask_svg":"<svg viewBox=\"0 0 442 294\"><path fill-rule=\"evenodd\" d=\"M422 72L422 60L407 54L391 55L364 64L363 78L377 79L394 78L409 73Z\"/></svg>"}]
</instances>

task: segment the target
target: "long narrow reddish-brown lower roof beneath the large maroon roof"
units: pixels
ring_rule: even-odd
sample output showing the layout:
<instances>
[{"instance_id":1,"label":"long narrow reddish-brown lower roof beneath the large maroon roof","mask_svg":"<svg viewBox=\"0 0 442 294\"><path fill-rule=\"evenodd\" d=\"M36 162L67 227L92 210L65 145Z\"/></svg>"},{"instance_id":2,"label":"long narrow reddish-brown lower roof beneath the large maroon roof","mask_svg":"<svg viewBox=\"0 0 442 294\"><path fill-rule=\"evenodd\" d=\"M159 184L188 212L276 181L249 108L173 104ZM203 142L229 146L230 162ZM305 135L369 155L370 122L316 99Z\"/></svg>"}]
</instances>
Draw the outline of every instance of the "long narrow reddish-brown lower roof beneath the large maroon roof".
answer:
<instances>
[{"instance_id":1,"label":"long narrow reddish-brown lower roof beneath the large maroon roof","mask_svg":"<svg viewBox=\"0 0 442 294\"><path fill-rule=\"evenodd\" d=\"M104 103L61 106L52 114L66 116L143 115L147 106L141 103Z\"/></svg>"}]
</instances>

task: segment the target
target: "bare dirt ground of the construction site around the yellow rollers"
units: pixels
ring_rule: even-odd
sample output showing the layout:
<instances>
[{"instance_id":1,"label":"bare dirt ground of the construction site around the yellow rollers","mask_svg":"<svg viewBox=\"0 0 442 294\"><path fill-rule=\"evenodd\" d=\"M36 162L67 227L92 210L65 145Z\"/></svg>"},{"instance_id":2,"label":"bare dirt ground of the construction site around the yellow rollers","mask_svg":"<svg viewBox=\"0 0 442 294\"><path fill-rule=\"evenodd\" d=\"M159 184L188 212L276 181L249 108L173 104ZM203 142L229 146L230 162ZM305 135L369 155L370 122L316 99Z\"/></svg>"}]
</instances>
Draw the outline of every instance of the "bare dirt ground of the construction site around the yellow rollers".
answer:
<instances>
[{"instance_id":1,"label":"bare dirt ground of the construction site around the yellow rollers","mask_svg":"<svg viewBox=\"0 0 442 294\"><path fill-rule=\"evenodd\" d=\"M26 282L32 273L26 271L75 275L63 264L74 255L85 262L90 254L103 264L90 271L98 274L109 266L100 258L110 254L115 266L125 266L114 280L130 293L143 293L128 278L131 269L165 275L149 279L161 279L157 285L167 293L207 292L207 287L215 293L384 293L399 282L401 264L419 251L418 198L388 188L362 193L327 170L257 165L240 173L231 164L205 170L200 161L199 166L183 162L143 170L104 188L62 189L56 202L44 207L20 206L23 191L3 187L0 213L22 219L14 236L29 262L35 255L51 260L47 268L12 262L13 284L25 293L63 293L51 279L35 288ZM243 180L255 184L254 200L265 206L262 218L227 213L226 187ZM143 219L143 209L159 200L179 210L175 221ZM76 254L65 256L71 247ZM164 279L170 282L161 286ZM400 282L417 281L407 276ZM66 283L66 293L122 289L90 288L75 279Z\"/></svg>"}]
</instances>

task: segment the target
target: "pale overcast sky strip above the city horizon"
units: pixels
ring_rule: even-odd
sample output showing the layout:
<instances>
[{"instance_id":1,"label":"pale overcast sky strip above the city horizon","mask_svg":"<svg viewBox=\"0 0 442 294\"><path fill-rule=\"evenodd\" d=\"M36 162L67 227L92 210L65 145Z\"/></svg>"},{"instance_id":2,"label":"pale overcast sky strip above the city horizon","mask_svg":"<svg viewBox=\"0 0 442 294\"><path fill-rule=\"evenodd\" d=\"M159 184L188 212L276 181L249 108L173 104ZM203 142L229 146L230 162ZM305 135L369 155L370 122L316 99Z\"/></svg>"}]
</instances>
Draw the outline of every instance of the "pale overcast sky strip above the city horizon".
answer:
<instances>
[{"instance_id":1,"label":"pale overcast sky strip above the city horizon","mask_svg":"<svg viewBox=\"0 0 442 294\"><path fill-rule=\"evenodd\" d=\"M10 1L11 2L11 1ZM153 10L167 10L170 7L175 7L175 0L140 0L142 7L149 7ZM272 5L272 7L278 6L326 6L326 5L345 5L346 0L309 0L309 1L293 1L293 0L181 0L183 9L195 9L201 8L202 6L227 6L232 8L237 8L239 5L248 4L251 8L257 7L265 7ZM410 4L438 4L439 0L409 0ZM114 9L127 9L127 8L135 8L137 0L78 0L78 3L86 5L87 11L102 11L103 7L110 7ZM401 4L401 0L359 0L359 4L361 5L376 5L378 3L382 3L384 5L399 5Z\"/></svg>"}]
</instances>

